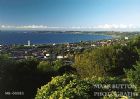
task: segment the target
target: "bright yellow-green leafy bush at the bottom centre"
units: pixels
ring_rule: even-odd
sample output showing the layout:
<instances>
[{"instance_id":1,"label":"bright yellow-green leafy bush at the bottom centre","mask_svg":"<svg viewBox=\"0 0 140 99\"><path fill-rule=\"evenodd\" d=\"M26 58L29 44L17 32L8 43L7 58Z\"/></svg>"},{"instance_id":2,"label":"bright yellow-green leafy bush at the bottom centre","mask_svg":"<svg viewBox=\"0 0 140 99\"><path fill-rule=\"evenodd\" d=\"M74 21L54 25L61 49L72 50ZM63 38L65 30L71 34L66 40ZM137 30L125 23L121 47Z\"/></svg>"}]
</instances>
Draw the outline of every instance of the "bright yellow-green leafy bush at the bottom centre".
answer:
<instances>
[{"instance_id":1,"label":"bright yellow-green leafy bush at the bottom centre","mask_svg":"<svg viewBox=\"0 0 140 99\"><path fill-rule=\"evenodd\" d=\"M87 99L90 86L75 75L57 76L38 89L35 99Z\"/></svg>"}]
</instances>

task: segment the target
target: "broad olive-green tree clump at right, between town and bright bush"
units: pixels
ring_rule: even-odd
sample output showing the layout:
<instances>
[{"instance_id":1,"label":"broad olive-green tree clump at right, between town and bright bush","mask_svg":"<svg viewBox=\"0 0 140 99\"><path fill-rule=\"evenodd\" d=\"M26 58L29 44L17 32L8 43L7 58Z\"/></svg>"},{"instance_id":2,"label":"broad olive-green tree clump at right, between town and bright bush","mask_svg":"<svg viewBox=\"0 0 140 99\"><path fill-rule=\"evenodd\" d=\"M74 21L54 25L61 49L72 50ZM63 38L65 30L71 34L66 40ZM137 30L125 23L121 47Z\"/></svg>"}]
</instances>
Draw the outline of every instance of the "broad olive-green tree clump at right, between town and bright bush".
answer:
<instances>
[{"instance_id":1,"label":"broad olive-green tree clump at right, between town and bright bush","mask_svg":"<svg viewBox=\"0 0 140 99\"><path fill-rule=\"evenodd\" d=\"M137 60L139 53L133 46L115 45L76 55L74 67L81 77L118 76L124 74L123 68L132 68Z\"/></svg>"}]
</instances>

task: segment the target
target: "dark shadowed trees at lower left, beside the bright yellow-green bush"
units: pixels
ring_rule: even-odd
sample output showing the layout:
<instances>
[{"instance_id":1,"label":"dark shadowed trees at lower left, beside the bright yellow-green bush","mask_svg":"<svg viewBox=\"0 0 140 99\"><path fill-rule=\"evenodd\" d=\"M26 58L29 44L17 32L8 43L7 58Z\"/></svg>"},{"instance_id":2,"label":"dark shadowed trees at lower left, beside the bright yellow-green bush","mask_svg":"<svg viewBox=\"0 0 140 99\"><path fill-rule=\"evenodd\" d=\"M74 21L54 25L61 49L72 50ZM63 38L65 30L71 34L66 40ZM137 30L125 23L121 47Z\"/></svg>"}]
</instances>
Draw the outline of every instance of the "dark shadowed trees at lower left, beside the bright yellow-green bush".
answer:
<instances>
[{"instance_id":1,"label":"dark shadowed trees at lower left, beside the bright yellow-green bush","mask_svg":"<svg viewBox=\"0 0 140 99\"><path fill-rule=\"evenodd\" d=\"M34 58L15 61L6 54L0 55L0 99L34 98L37 88L49 82L51 77L64 74L67 67L61 60L50 64ZM24 94L7 95L6 92Z\"/></svg>"}]
</instances>

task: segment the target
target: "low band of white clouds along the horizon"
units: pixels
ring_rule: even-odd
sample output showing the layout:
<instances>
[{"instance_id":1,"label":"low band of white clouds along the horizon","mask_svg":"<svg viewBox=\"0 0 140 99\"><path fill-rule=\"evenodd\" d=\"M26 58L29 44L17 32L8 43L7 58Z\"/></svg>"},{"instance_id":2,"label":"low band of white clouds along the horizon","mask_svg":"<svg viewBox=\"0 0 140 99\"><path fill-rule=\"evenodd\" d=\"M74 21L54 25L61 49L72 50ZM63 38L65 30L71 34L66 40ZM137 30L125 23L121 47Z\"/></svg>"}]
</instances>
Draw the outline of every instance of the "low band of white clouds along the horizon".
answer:
<instances>
[{"instance_id":1,"label":"low band of white clouds along the horizon","mask_svg":"<svg viewBox=\"0 0 140 99\"><path fill-rule=\"evenodd\" d=\"M133 24L103 24L103 25L97 25L97 26L89 26L89 27L84 27L84 26L71 26L71 27L49 27L47 25L21 25L21 26L12 26L12 25L0 25L1 29L138 29L140 26L135 26Z\"/></svg>"}]
</instances>

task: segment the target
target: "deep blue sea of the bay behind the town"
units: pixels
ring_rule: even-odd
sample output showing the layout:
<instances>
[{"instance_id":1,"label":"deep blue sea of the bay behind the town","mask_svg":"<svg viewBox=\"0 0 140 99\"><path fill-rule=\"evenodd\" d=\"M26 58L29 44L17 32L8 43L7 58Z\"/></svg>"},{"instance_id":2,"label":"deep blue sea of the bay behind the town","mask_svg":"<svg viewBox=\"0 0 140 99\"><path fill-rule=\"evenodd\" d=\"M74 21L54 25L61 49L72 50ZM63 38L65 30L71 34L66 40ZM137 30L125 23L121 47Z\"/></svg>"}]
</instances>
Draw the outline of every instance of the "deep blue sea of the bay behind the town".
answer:
<instances>
[{"instance_id":1,"label":"deep blue sea of the bay behind the town","mask_svg":"<svg viewBox=\"0 0 140 99\"><path fill-rule=\"evenodd\" d=\"M28 40L30 40L31 44L59 44L75 43L80 41L97 41L103 39L112 39L112 36L51 31L0 31L0 45L27 44Z\"/></svg>"}]
</instances>

